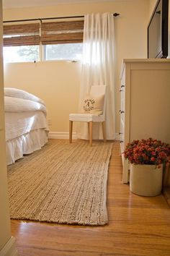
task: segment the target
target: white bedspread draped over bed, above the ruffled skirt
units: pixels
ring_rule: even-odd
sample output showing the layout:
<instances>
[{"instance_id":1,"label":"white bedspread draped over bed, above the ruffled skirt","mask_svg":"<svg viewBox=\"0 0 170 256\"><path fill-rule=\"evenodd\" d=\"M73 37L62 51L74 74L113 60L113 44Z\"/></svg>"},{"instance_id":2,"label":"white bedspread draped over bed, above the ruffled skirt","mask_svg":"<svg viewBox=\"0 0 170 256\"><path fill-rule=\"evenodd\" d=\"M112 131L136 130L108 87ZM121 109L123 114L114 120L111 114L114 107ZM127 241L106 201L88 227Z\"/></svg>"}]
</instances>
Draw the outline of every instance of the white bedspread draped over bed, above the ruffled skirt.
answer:
<instances>
[{"instance_id":1,"label":"white bedspread draped over bed, above the ruffled skirt","mask_svg":"<svg viewBox=\"0 0 170 256\"><path fill-rule=\"evenodd\" d=\"M4 88L6 140L35 129L48 129L45 103L35 95L17 88Z\"/></svg>"}]
</instances>

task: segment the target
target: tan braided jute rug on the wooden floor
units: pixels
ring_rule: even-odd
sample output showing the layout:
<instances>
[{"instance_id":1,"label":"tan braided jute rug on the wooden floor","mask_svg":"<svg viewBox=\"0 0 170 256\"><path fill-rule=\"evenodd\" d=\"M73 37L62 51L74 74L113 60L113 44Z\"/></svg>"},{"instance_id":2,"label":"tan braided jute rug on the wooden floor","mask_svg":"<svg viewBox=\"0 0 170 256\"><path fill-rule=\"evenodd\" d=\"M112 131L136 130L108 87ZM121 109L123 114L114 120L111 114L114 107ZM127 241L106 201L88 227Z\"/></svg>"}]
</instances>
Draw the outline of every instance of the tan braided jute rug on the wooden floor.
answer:
<instances>
[{"instance_id":1,"label":"tan braided jute rug on the wooden floor","mask_svg":"<svg viewBox=\"0 0 170 256\"><path fill-rule=\"evenodd\" d=\"M13 219L102 226L111 142L49 140L8 166Z\"/></svg>"}]
</instances>

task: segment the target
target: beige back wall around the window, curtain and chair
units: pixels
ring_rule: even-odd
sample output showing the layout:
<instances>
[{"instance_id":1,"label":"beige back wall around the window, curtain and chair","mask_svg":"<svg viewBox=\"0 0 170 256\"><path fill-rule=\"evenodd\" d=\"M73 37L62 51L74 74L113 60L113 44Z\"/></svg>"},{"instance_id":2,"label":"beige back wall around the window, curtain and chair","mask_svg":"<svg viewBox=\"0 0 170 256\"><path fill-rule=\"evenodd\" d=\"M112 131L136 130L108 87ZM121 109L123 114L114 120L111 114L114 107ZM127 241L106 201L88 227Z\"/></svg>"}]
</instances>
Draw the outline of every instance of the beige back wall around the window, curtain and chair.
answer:
<instances>
[{"instance_id":1,"label":"beige back wall around the window, curtain and chair","mask_svg":"<svg viewBox=\"0 0 170 256\"><path fill-rule=\"evenodd\" d=\"M116 132L120 127L120 67L122 59L146 58L148 0L61 4L55 7L6 9L4 20L58 17L97 12L118 12L115 18L116 44ZM81 64L68 61L6 64L4 84L28 90L40 96L48 107L53 132L68 132L68 114L76 111L79 101Z\"/></svg>"}]
</instances>

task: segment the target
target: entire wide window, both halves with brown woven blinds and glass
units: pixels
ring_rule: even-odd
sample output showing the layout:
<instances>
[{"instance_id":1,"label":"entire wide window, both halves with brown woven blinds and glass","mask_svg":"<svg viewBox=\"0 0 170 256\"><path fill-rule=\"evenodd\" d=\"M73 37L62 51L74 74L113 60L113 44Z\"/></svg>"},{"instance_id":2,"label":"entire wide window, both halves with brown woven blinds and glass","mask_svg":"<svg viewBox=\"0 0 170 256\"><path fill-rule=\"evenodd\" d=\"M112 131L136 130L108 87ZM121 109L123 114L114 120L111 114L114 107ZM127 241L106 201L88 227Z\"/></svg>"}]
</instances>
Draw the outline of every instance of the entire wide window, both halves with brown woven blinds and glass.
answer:
<instances>
[{"instance_id":1,"label":"entire wide window, both halves with brown woven blinds and glass","mask_svg":"<svg viewBox=\"0 0 170 256\"><path fill-rule=\"evenodd\" d=\"M82 55L84 20L41 20L4 25L4 62L79 60Z\"/></svg>"}]
</instances>

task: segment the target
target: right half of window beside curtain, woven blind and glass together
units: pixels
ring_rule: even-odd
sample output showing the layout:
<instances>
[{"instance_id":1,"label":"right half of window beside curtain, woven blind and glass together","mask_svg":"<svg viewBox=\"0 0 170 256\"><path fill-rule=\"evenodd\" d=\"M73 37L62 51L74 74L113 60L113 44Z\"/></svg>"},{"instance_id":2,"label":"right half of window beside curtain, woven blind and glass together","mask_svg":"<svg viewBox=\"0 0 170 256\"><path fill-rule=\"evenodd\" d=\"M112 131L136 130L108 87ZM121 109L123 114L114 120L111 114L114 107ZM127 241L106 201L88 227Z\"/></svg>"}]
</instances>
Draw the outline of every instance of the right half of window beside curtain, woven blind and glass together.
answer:
<instances>
[{"instance_id":1,"label":"right half of window beside curtain, woven blind and glass together","mask_svg":"<svg viewBox=\"0 0 170 256\"><path fill-rule=\"evenodd\" d=\"M82 54L84 21L42 22L41 42L45 60L79 60Z\"/></svg>"}]
</instances>

